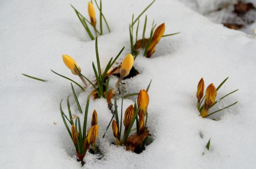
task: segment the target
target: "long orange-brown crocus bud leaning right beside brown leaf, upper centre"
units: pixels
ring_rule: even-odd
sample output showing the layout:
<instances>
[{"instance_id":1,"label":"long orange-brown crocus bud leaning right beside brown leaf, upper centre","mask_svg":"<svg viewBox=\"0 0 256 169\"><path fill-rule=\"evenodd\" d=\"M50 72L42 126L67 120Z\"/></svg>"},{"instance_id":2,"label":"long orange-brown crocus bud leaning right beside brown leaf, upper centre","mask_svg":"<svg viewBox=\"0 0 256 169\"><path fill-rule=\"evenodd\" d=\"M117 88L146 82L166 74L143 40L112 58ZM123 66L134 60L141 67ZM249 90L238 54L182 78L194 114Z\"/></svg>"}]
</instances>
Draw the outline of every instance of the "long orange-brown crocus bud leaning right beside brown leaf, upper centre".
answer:
<instances>
[{"instance_id":1,"label":"long orange-brown crocus bud leaning right beside brown leaf, upper centre","mask_svg":"<svg viewBox=\"0 0 256 169\"><path fill-rule=\"evenodd\" d=\"M162 23L154 32L154 35L152 37L152 40L150 42L150 46L148 46L146 57L151 57L151 55L155 52L155 48L157 46L157 43L163 36L165 31L165 24Z\"/></svg>"}]
</instances>

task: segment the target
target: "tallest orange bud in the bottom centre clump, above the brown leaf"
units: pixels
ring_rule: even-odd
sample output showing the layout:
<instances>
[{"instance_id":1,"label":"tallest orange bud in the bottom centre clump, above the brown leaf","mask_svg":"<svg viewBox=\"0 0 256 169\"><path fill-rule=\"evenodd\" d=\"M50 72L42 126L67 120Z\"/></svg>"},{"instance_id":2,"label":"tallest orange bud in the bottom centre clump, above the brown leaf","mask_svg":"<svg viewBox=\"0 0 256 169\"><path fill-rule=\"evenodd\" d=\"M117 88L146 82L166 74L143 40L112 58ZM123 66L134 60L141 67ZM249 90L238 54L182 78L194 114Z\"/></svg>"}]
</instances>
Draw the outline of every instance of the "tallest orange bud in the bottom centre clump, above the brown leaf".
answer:
<instances>
[{"instance_id":1,"label":"tallest orange bud in the bottom centre clump, above the brown leaf","mask_svg":"<svg viewBox=\"0 0 256 169\"><path fill-rule=\"evenodd\" d=\"M150 97L147 94L146 90L140 90L139 95L138 95L138 107L140 108L139 110L139 115L140 114L144 114L144 116L146 115L146 111L147 111L147 106L148 103L150 103Z\"/></svg>"}]
</instances>

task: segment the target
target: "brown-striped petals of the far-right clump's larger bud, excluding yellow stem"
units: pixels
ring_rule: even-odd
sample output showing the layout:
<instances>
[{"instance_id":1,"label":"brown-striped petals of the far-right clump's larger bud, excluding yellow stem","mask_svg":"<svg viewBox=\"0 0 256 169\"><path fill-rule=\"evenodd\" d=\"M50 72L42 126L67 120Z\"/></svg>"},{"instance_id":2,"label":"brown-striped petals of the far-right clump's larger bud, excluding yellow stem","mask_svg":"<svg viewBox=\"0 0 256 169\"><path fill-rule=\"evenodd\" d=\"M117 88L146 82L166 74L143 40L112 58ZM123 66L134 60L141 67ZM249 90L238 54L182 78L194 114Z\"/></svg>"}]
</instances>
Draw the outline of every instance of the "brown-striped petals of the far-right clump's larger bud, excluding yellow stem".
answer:
<instances>
[{"instance_id":1,"label":"brown-striped petals of the far-right clump's larger bud, excluding yellow stem","mask_svg":"<svg viewBox=\"0 0 256 169\"><path fill-rule=\"evenodd\" d=\"M217 96L217 90L216 90L214 84L211 83L206 88L205 103L204 103L205 109L207 109L208 107L212 106L215 103L216 96Z\"/></svg>"}]
</instances>

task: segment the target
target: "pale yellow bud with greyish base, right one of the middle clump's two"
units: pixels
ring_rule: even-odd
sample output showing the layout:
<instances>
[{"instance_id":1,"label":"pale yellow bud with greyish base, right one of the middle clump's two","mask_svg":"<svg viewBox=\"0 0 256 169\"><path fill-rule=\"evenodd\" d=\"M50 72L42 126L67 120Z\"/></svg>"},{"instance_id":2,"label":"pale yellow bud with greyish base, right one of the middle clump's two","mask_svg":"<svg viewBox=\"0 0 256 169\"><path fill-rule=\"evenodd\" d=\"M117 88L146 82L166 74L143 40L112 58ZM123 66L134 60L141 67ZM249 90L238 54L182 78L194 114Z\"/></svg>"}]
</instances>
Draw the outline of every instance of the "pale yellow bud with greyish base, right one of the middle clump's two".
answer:
<instances>
[{"instance_id":1,"label":"pale yellow bud with greyish base, right one of the middle clump's two","mask_svg":"<svg viewBox=\"0 0 256 169\"><path fill-rule=\"evenodd\" d=\"M129 75L130 70L133 67L134 58L132 54L126 55L126 57L123 59L121 69L120 69L120 76L125 77Z\"/></svg>"}]
</instances>

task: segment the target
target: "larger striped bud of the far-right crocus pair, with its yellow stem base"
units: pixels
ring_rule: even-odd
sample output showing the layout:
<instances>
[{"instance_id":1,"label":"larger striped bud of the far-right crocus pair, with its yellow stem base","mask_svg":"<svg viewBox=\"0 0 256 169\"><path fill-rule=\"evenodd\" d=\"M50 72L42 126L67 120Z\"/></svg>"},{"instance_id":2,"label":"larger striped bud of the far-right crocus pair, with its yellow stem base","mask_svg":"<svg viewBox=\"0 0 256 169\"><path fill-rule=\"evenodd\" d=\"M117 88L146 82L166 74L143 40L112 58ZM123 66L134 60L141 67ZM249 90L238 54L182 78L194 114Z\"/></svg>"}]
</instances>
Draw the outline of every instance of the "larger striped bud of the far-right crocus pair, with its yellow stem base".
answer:
<instances>
[{"instance_id":1,"label":"larger striped bud of the far-right crocus pair, with its yellow stem base","mask_svg":"<svg viewBox=\"0 0 256 169\"><path fill-rule=\"evenodd\" d=\"M203 109L202 112L200 113L200 115L201 115L202 117L205 117L206 115L208 115L209 108L210 108L212 105L214 105L216 96L217 96L217 90L216 90L214 84L211 83L211 84L206 88L204 109Z\"/></svg>"}]
</instances>

